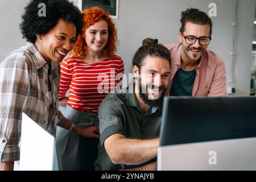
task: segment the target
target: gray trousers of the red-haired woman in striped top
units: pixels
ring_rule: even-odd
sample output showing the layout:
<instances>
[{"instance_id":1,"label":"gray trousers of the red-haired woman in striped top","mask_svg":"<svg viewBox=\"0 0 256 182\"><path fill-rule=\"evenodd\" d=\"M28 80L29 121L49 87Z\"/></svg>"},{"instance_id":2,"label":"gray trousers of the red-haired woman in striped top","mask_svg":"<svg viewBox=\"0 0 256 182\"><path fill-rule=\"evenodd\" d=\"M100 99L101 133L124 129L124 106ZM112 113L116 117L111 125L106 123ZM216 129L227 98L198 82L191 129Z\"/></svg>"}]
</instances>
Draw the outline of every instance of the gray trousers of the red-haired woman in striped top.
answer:
<instances>
[{"instance_id":1,"label":"gray trousers of the red-haired woman in striped top","mask_svg":"<svg viewBox=\"0 0 256 182\"><path fill-rule=\"evenodd\" d=\"M80 127L98 125L95 113L83 113L65 107L64 117ZM98 155L98 139L79 136L61 127L56 132L56 154L60 171L93 170ZM84 152L85 151L85 152Z\"/></svg>"}]
</instances>

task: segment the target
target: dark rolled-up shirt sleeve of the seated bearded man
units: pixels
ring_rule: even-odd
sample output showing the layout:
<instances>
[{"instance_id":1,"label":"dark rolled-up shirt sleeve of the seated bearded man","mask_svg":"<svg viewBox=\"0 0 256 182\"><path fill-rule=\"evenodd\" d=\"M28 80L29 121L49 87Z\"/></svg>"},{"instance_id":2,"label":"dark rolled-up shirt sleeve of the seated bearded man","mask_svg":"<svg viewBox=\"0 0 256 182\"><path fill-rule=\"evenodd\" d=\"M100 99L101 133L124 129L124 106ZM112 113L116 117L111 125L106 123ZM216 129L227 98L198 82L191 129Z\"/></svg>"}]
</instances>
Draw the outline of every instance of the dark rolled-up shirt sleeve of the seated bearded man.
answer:
<instances>
[{"instance_id":1,"label":"dark rolled-up shirt sleeve of the seated bearded man","mask_svg":"<svg viewBox=\"0 0 256 182\"><path fill-rule=\"evenodd\" d=\"M127 137L127 133L122 124L121 114L118 114L120 106L116 100L115 94L108 94L101 102L98 110L98 118L100 120L100 141L104 146L106 138L113 134L122 134Z\"/></svg>"}]
</instances>

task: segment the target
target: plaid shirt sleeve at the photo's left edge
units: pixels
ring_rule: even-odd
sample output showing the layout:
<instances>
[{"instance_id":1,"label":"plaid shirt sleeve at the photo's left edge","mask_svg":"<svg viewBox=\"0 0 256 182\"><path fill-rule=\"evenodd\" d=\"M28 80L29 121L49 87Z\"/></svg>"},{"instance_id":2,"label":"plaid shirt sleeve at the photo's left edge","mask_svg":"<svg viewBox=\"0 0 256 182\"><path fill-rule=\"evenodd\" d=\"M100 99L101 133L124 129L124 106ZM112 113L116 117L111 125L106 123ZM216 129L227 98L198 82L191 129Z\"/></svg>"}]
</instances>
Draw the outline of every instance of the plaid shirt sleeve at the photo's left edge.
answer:
<instances>
[{"instance_id":1,"label":"plaid shirt sleeve at the photo's left edge","mask_svg":"<svg viewBox=\"0 0 256 182\"><path fill-rule=\"evenodd\" d=\"M22 53L0 64L0 161L19 160L22 112L30 92L29 65Z\"/></svg>"}]
</instances>

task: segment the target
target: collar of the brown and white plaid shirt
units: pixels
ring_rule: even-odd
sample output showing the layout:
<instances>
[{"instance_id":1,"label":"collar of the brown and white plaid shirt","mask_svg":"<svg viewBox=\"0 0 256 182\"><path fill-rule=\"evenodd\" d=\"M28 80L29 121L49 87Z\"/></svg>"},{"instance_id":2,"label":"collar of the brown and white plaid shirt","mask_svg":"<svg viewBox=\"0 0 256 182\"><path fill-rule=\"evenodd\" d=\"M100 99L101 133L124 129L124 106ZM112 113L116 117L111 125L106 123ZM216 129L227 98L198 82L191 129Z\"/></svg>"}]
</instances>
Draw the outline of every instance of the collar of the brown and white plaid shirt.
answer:
<instances>
[{"instance_id":1,"label":"collar of the brown and white plaid shirt","mask_svg":"<svg viewBox=\"0 0 256 182\"><path fill-rule=\"evenodd\" d=\"M47 61L44 60L43 56L41 55L41 53L38 51L38 49L35 47L34 44L32 43L27 43L26 48L28 49L28 51L30 51L31 56L34 58L33 61L35 63L35 67L36 69L40 69L42 68L44 65L47 65Z\"/></svg>"}]
</instances>

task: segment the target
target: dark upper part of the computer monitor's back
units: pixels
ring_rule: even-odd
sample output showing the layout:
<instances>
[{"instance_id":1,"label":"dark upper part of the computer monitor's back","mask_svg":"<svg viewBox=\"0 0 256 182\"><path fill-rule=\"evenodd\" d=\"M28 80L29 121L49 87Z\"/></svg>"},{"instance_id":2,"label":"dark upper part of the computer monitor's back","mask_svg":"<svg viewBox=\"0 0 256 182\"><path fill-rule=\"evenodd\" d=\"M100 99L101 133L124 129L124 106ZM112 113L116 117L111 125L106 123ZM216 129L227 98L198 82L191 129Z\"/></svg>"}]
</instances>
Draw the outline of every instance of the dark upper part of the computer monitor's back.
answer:
<instances>
[{"instance_id":1,"label":"dark upper part of the computer monitor's back","mask_svg":"<svg viewBox=\"0 0 256 182\"><path fill-rule=\"evenodd\" d=\"M164 98L160 146L256 137L256 97Z\"/></svg>"}]
</instances>

